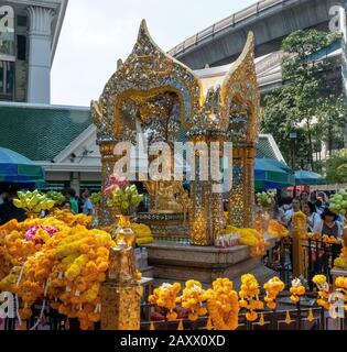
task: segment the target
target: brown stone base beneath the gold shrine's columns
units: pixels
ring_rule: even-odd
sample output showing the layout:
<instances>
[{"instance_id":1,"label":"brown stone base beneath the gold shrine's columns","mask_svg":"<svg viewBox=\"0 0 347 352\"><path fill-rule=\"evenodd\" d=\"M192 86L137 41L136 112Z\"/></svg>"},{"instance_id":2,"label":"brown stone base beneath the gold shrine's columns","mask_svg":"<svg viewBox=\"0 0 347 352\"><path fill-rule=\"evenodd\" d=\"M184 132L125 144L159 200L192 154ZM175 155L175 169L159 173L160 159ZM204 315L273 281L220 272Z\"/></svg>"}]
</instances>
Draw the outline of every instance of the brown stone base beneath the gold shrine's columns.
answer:
<instances>
[{"instance_id":1,"label":"brown stone base beneath the gold shrine's columns","mask_svg":"<svg viewBox=\"0 0 347 352\"><path fill-rule=\"evenodd\" d=\"M271 248L274 240L270 241ZM253 274L260 284L276 275L261 263L261 257L251 257L247 245L217 249L158 241L147 249L155 285L196 279L209 286L218 277L228 277L238 288L242 274Z\"/></svg>"}]
</instances>

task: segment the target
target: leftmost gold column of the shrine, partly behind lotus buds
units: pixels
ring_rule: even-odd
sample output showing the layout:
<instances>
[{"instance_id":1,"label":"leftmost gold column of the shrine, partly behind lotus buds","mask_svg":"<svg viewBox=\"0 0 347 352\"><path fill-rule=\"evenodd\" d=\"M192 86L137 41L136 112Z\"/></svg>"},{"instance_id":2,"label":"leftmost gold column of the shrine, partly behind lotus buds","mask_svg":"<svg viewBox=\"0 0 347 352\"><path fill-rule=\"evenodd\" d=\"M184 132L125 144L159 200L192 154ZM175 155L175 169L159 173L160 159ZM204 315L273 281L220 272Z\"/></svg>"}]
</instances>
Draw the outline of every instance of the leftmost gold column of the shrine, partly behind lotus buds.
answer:
<instances>
[{"instance_id":1,"label":"leftmost gold column of the shrine, partly behind lotus buds","mask_svg":"<svg viewBox=\"0 0 347 352\"><path fill-rule=\"evenodd\" d=\"M108 180L110 175L113 173L116 164L115 155L115 142L104 142L100 144L101 154L101 193L108 187ZM100 200L100 220L99 224L101 227L109 227L115 222L115 216L112 210L107 206L106 197L101 197Z\"/></svg>"}]
</instances>

